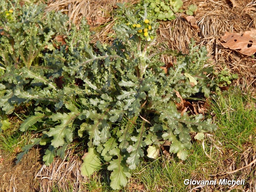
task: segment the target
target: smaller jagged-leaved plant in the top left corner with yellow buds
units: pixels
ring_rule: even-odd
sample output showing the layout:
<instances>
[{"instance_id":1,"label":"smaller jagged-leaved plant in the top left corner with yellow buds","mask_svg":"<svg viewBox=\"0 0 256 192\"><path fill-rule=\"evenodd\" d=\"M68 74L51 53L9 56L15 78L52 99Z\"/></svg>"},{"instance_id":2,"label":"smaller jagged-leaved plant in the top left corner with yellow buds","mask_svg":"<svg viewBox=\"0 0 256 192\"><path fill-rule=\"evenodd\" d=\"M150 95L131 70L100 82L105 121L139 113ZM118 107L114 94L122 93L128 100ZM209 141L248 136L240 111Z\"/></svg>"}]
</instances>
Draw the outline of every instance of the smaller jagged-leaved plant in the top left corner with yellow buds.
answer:
<instances>
[{"instance_id":1,"label":"smaller jagged-leaved plant in the top left corner with yellow buds","mask_svg":"<svg viewBox=\"0 0 256 192\"><path fill-rule=\"evenodd\" d=\"M24 5L15 6L1 1L0 26L3 34L0 36L0 64L6 68L9 65L19 64L30 68L32 63L38 65L38 57L42 57L45 45L50 43L52 36L67 31L65 22L68 17L60 12L47 12L44 16L42 6ZM10 12L10 10L12 10ZM9 14L8 16L6 16ZM62 28L59 26L62 25ZM36 59L37 58L37 59Z\"/></svg>"}]
</instances>

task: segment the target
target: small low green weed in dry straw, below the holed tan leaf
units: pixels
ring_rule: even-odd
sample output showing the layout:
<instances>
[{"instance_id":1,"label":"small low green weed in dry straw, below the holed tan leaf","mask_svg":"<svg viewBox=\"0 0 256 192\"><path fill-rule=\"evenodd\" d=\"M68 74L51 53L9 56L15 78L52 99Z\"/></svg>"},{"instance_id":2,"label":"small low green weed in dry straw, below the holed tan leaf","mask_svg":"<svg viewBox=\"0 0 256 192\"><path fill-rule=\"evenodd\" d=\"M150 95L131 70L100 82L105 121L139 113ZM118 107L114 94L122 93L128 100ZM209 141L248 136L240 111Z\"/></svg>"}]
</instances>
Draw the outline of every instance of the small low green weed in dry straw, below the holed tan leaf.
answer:
<instances>
[{"instance_id":1,"label":"small low green weed in dry straw, below the holed tan leaf","mask_svg":"<svg viewBox=\"0 0 256 192\"><path fill-rule=\"evenodd\" d=\"M223 70L215 71L213 74L216 76L215 81L219 86L228 86L233 79L238 79L238 74L230 74L229 70L225 67Z\"/></svg>"}]
</instances>

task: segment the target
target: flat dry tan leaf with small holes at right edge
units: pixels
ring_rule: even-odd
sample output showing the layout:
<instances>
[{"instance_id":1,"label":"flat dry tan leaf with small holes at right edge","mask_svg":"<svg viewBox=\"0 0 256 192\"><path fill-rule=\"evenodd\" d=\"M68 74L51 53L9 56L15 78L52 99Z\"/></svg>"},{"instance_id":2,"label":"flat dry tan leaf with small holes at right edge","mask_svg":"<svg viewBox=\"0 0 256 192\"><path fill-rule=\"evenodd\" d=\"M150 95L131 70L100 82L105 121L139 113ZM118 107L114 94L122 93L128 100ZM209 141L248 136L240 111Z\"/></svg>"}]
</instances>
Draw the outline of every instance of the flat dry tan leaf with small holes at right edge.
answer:
<instances>
[{"instance_id":1,"label":"flat dry tan leaf with small holes at right edge","mask_svg":"<svg viewBox=\"0 0 256 192\"><path fill-rule=\"evenodd\" d=\"M223 47L236 50L244 55L251 56L256 52L256 39L252 38L255 30L245 31L244 33L228 33L221 39L225 43L221 43Z\"/></svg>"}]
</instances>

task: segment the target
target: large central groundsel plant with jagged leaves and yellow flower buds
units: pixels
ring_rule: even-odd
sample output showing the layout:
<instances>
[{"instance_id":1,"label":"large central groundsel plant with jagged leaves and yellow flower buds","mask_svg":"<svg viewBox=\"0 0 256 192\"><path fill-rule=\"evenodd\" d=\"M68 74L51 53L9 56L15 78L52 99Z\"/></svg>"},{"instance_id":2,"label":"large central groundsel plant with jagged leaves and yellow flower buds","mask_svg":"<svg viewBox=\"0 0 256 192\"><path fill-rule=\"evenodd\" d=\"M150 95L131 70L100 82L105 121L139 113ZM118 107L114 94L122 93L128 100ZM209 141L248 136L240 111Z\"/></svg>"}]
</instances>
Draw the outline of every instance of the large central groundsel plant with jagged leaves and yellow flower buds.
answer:
<instances>
[{"instance_id":1,"label":"large central groundsel plant with jagged leaves and yellow flower buds","mask_svg":"<svg viewBox=\"0 0 256 192\"><path fill-rule=\"evenodd\" d=\"M108 163L110 186L127 184L129 170L135 169L147 148L157 150L166 140L170 153L185 160L191 147L189 133L216 129L202 114L188 115L176 103L198 92L206 97L213 85L206 73L205 48L193 47L188 55L161 52L155 47L158 24L144 15L126 10L114 27L113 44L90 44L85 23L66 35L66 44L44 52L37 66L9 65L0 77L2 110L30 102L34 114L21 125L27 131L36 125L42 134L22 148L21 157L35 145L47 145L43 160L65 157L74 135L87 141L81 174L90 176L102 162ZM59 23L65 28L66 23ZM177 57L174 67L164 72L161 54ZM8 107L7 107L8 109ZM153 149L153 150L152 150Z\"/></svg>"}]
</instances>

